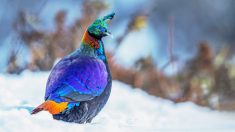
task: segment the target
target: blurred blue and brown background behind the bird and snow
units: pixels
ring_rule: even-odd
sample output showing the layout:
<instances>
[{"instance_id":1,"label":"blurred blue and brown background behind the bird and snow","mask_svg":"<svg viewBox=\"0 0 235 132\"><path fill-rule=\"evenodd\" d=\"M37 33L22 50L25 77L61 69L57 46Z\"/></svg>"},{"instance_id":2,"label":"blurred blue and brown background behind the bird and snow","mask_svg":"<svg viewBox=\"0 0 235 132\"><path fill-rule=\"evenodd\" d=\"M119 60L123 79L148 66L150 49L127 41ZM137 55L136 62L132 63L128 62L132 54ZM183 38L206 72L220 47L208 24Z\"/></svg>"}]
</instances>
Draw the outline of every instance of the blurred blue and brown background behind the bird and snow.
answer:
<instances>
[{"instance_id":1,"label":"blurred blue and brown background behind the bird and snow","mask_svg":"<svg viewBox=\"0 0 235 132\"><path fill-rule=\"evenodd\" d=\"M96 18L114 80L175 103L235 110L234 0L0 0L0 72L50 71Z\"/></svg>"}]
</instances>

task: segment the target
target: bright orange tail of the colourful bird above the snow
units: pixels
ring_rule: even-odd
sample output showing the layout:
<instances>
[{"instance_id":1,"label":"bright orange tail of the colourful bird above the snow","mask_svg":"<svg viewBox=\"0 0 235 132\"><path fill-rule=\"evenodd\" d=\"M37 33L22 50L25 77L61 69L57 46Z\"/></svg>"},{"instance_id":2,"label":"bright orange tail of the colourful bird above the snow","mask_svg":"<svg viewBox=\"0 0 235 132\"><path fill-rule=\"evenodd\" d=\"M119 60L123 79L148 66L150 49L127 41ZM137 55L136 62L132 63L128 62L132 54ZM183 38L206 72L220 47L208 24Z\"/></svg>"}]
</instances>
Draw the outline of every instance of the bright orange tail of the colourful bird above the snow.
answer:
<instances>
[{"instance_id":1,"label":"bright orange tail of the colourful bird above the snow","mask_svg":"<svg viewBox=\"0 0 235 132\"><path fill-rule=\"evenodd\" d=\"M35 108L31 114L37 114L38 112L45 110L50 112L52 115L59 114L60 112L64 111L68 106L68 102L61 102L56 103L52 100L47 100L41 105L39 105L37 108Z\"/></svg>"}]
</instances>

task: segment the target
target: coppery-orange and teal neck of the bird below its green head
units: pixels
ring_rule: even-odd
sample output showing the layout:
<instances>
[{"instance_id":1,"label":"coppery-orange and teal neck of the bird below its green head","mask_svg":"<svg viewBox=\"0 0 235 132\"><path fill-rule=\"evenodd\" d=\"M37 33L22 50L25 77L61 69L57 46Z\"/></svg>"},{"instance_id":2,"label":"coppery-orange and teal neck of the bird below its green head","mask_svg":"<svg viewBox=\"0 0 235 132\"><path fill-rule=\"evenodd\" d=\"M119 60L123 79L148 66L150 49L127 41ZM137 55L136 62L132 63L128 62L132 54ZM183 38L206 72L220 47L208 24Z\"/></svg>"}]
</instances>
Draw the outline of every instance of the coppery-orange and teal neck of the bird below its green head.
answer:
<instances>
[{"instance_id":1,"label":"coppery-orange and teal neck of the bird below its green head","mask_svg":"<svg viewBox=\"0 0 235 132\"><path fill-rule=\"evenodd\" d=\"M107 61L102 40L91 36L88 31L83 35L80 50L83 55L98 57L104 62Z\"/></svg>"}]
</instances>

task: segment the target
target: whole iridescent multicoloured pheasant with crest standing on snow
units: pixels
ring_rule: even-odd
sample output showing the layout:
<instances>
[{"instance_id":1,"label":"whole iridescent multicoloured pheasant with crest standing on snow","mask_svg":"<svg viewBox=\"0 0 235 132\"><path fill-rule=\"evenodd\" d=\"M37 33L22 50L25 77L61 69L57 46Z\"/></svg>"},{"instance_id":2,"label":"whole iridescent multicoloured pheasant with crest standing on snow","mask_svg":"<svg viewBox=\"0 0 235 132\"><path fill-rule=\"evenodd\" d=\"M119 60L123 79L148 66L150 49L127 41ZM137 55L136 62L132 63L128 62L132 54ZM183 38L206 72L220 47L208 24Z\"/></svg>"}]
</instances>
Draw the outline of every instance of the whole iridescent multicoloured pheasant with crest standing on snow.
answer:
<instances>
[{"instance_id":1,"label":"whole iridescent multicoloured pheasant with crest standing on snow","mask_svg":"<svg viewBox=\"0 0 235 132\"><path fill-rule=\"evenodd\" d=\"M91 123L107 103L112 76L102 38L110 36L108 21L115 13L96 19L83 34L80 47L51 70L45 102L31 114L48 111L55 120Z\"/></svg>"}]
</instances>

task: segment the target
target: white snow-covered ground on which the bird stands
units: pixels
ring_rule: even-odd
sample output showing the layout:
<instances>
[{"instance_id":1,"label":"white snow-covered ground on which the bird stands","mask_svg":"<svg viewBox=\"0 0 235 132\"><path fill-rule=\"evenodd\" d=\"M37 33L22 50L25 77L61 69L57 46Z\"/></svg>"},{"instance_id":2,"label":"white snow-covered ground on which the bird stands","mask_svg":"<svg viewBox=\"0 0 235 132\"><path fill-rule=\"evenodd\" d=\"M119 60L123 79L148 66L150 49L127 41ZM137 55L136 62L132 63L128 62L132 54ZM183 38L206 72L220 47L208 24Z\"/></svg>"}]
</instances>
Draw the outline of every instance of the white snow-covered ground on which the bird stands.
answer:
<instances>
[{"instance_id":1,"label":"white snow-covered ground on which the bird stands","mask_svg":"<svg viewBox=\"0 0 235 132\"><path fill-rule=\"evenodd\" d=\"M192 103L174 104L114 81L108 104L91 124L53 120L47 112L30 115L43 101L48 73L0 75L0 132L234 132L235 113L211 111Z\"/></svg>"}]
</instances>

